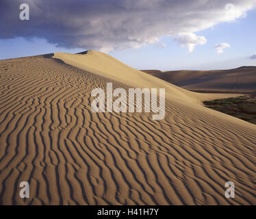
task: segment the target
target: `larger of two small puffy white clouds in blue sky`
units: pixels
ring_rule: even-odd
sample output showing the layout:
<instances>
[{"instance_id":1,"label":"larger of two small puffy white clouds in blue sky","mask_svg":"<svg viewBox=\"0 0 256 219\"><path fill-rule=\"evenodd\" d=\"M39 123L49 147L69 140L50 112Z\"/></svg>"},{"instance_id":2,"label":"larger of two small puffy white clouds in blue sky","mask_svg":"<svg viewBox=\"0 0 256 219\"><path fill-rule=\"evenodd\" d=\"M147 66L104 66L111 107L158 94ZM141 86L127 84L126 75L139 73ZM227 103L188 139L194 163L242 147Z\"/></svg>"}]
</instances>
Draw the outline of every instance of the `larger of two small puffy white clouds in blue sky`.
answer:
<instances>
[{"instance_id":1,"label":"larger of two small puffy white clouds in blue sky","mask_svg":"<svg viewBox=\"0 0 256 219\"><path fill-rule=\"evenodd\" d=\"M192 33L181 33L175 37L175 40L179 42L181 47L187 46L188 52L192 53L194 51L194 47L196 45L203 45L207 42L204 36L196 36L196 34Z\"/></svg>"}]
</instances>

